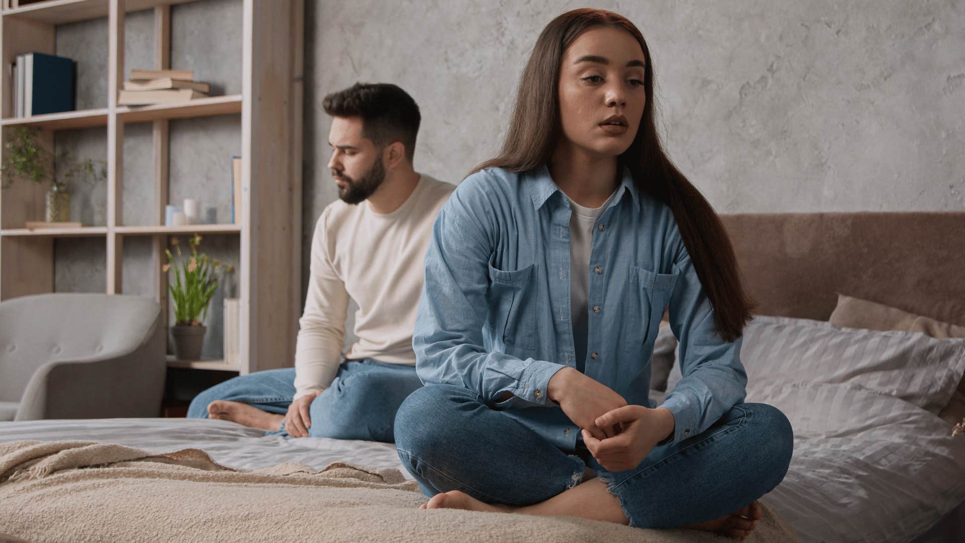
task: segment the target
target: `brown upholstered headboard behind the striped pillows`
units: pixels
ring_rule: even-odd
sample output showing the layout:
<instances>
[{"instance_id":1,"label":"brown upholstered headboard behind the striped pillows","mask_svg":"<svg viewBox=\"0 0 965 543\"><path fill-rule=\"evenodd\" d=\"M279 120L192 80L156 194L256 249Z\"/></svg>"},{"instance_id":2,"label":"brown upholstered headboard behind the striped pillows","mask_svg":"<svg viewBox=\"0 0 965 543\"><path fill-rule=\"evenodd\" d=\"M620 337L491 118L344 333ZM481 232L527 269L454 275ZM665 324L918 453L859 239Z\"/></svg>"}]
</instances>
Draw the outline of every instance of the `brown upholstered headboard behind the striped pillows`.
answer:
<instances>
[{"instance_id":1,"label":"brown upholstered headboard behind the striped pillows","mask_svg":"<svg viewBox=\"0 0 965 543\"><path fill-rule=\"evenodd\" d=\"M840 292L965 326L965 212L721 219L757 314L827 320Z\"/></svg>"}]
</instances>

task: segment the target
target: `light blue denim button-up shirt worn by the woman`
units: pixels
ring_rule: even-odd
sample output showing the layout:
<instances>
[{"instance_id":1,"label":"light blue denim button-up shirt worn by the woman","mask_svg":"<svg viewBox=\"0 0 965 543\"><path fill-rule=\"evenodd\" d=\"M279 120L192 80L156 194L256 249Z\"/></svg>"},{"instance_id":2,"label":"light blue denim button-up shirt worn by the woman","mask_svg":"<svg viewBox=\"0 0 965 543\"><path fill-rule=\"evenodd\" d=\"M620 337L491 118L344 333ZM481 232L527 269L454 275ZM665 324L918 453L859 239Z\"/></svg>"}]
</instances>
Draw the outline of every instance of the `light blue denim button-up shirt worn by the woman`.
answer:
<instances>
[{"instance_id":1,"label":"light blue denim button-up shirt worn by the woman","mask_svg":"<svg viewBox=\"0 0 965 543\"><path fill-rule=\"evenodd\" d=\"M412 346L424 384L464 386L572 451L580 430L546 386L576 367L569 295L569 202L549 170L487 168L455 188L436 216ZM650 358L664 310L683 379L649 400ZM742 338L715 335L673 212L624 169L593 231L584 373L627 403L675 417L664 443L696 436L746 395ZM496 399L510 391L512 397Z\"/></svg>"}]
</instances>

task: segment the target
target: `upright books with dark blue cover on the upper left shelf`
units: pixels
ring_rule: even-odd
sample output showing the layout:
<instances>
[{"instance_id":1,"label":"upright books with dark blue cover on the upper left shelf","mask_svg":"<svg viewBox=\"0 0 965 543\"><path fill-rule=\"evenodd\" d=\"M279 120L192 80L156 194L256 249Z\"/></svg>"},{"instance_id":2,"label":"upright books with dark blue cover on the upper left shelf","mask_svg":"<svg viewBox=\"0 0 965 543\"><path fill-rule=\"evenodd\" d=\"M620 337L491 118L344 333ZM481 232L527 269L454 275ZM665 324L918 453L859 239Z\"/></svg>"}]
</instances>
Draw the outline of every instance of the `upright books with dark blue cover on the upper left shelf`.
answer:
<instances>
[{"instance_id":1,"label":"upright books with dark blue cover on the upper left shelf","mask_svg":"<svg viewBox=\"0 0 965 543\"><path fill-rule=\"evenodd\" d=\"M75 67L67 57L34 51L10 65L14 117L73 111Z\"/></svg>"}]
</instances>

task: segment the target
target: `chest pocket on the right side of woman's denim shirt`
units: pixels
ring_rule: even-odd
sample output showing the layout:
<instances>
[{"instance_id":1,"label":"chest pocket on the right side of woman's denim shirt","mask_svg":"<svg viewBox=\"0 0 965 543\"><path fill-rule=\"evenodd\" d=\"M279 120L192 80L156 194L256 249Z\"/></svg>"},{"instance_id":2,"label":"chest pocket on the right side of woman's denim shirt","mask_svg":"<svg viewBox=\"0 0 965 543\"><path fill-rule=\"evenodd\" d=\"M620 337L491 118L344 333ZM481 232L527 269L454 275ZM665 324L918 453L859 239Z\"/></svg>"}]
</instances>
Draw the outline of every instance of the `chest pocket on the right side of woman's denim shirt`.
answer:
<instances>
[{"instance_id":1,"label":"chest pocket on the right side of woman's denim shirt","mask_svg":"<svg viewBox=\"0 0 965 543\"><path fill-rule=\"evenodd\" d=\"M623 313L623 351L640 351L655 337L664 310L674 293L679 273L655 273L639 266L629 269L626 310Z\"/></svg>"}]
</instances>

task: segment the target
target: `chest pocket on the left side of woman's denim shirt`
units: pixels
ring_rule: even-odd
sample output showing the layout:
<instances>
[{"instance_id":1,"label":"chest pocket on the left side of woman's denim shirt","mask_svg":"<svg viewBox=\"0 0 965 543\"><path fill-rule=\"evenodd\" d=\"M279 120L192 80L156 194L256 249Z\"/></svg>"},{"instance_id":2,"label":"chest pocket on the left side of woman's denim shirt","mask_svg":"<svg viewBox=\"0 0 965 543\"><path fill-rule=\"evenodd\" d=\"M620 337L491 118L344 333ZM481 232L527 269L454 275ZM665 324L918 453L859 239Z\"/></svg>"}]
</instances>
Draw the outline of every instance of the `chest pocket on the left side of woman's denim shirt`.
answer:
<instances>
[{"instance_id":1,"label":"chest pocket on the left side of woman's denim shirt","mask_svg":"<svg viewBox=\"0 0 965 543\"><path fill-rule=\"evenodd\" d=\"M489 318L496 337L518 349L536 349L536 263L511 272L489 263Z\"/></svg>"}]
</instances>

